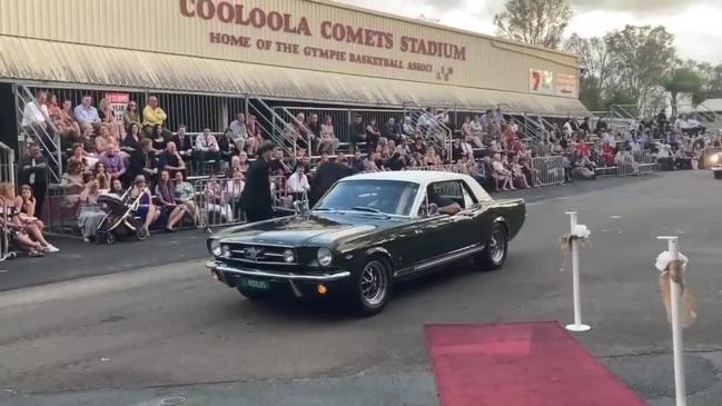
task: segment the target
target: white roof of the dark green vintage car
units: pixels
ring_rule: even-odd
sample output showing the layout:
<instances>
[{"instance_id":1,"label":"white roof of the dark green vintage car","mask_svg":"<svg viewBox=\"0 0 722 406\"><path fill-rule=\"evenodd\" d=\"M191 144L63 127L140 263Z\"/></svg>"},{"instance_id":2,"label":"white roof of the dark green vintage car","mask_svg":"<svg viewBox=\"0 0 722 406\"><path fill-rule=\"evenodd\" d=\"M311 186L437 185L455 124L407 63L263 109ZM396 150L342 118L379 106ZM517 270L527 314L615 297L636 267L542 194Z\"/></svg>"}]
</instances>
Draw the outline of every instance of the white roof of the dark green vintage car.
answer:
<instances>
[{"instance_id":1,"label":"white roof of the dark green vintage car","mask_svg":"<svg viewBox=\"0 0 722 406\"><path fill-rule=\"evenodd\" d=\"M396 180L396 181L407 181L413 184L418 184L422 186L419 195L423 197L428 184L438 182L438 181L448 181L448 180L463 180L472 192L476 196L478 200L492 200L492 197L488 196L486 190L468 175L455 174L455 172L443 172L437 170L397 170L397 171L384 171L384 172L368 172L368 174L358 174L343 178L339 181L353 181L353 180Z\"/></svg>"}]
</instances>

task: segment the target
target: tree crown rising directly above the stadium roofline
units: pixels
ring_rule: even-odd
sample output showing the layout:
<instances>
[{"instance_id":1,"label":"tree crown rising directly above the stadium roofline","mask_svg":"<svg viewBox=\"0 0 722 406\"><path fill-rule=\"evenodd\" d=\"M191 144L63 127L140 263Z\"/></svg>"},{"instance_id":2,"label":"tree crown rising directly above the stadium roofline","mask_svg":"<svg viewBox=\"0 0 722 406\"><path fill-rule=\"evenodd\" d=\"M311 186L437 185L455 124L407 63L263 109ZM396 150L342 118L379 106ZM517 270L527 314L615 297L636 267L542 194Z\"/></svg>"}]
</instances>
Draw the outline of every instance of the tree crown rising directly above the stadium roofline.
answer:
<instances>
[{"instance_id":1,"label":"tree crown rising directly above the stadium roofline","mask_svg":"<svg viewBox=\"0 0 722 406\"><path fill-rule=\"evenodd\" d=\"M502 37L556 49L572 16L568 0L507 0L494 24Z\"/></svg>"}]
</instances>

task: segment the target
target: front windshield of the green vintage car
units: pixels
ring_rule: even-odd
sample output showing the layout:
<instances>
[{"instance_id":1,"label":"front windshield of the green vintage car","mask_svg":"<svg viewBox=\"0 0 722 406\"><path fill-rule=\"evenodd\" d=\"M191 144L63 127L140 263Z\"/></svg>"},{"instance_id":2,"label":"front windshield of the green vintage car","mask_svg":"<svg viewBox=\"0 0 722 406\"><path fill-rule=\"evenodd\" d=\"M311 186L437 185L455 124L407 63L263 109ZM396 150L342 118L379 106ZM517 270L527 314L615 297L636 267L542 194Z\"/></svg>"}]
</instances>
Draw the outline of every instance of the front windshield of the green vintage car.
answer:
<instances>
[{"instance_id":1,"label":"front windshield of the green vintage car","mask_svg":"<svg viewBox=\"0 0 722 406\"><path fill-rule=\"evenodd\" d=\"M418 185L396 180L346 180L316 205L315 210L352 210L408 216Z\"/></svg>"}]
</instances>

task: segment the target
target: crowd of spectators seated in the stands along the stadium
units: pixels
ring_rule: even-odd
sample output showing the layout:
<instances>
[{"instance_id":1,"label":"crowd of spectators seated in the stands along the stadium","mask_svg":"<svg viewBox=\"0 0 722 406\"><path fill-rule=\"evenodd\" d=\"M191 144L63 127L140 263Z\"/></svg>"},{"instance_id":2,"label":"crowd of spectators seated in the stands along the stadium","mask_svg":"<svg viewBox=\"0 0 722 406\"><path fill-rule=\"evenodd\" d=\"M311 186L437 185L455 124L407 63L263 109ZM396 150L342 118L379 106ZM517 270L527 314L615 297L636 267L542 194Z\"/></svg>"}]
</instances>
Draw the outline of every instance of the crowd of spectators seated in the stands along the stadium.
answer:
<instances>
[{"instance_id":1,"label":"crowd of spectators seated in the stands along the stadium","mask_svg":"<svg viewBox=\"0 0 722 406\"><path fill-rule=\"evenodd\" d=\"M589 118L574 117L546 126L541 119L515 119L501 108L456 118L458 122L448 110L432 108L385 117L383 123L358 115L342 129L318 110L298 112L285 126L286 148L277 146L268 164L275 204L289 206L306 194L315 167L329 161L347 166L350 172L442 168L471 175L487 190L501 191L538 186L550 172L564 181L594 179L605 168L637 165L640 151L653 152L662 169L696 169L702 149L720 146L719 136L706 133L694 117L685 115L670 120L660 112L626 128L611 128L603 118L592 125ZM182 123L171 132L155 97L142 109L131 100L117 117L105 99L96 108L92 98L85 96L73 107L70 100L59 105L55 95L40 91L26 105L22 126L28 133L52 128L60 136L67 158L62 205L76 210L87 241L95 237L101 219L97 197L103 192L140 199L139 215L147 229L156 226L174 231L184 222L197 224L200 208L194 197L198 190L189 176L210 177L204 184L202 210L224 221L241 217L246 172L261 143L270 140L257 118L244 112L222 132L205 128L191 136ZM342 149L339 132L348 136L348 149ZM42 139L37 141L44 145ZM287 155L288 150L294 154ZM561 157L563 165L535 165L535 158L544 157ZM33 212L42 212L48 168L38 143L29 143L23 159L21 196L30 191ZM3 199L11 199L18 211L27 206L18 206L14 197ZM32 220L22 221L34 226L23 226L18 241L31 252L53 250L36 231L42 227L33 212L24 210Z\"/></svg>"}]
</instances>

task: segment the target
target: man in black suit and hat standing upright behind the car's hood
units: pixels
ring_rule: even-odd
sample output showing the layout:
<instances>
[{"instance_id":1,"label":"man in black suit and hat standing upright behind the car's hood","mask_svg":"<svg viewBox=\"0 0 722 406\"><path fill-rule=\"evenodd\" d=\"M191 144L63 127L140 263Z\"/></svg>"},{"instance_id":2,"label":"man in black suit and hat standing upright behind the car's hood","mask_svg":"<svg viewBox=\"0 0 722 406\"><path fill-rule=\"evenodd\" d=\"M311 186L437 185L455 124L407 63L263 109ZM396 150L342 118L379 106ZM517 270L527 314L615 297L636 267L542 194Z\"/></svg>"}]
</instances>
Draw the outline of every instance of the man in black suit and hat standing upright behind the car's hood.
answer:
<instances>
[{"instance_id":1,"label":"man in black suit and hat standing upright behind the car's hood","mask_svg":"<svg viewBox=\"0 0 722 406\"><path fill-rule=\"evenodd\" d=\"M268 220L274 217L268 162L275 148L270 142L263 143L258 148L258 158L250 164L246 172L246 186L240 201L246 210L248 222Z\"/></svg>"}]
</instances>

